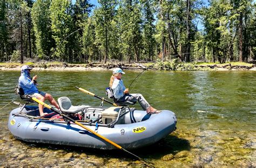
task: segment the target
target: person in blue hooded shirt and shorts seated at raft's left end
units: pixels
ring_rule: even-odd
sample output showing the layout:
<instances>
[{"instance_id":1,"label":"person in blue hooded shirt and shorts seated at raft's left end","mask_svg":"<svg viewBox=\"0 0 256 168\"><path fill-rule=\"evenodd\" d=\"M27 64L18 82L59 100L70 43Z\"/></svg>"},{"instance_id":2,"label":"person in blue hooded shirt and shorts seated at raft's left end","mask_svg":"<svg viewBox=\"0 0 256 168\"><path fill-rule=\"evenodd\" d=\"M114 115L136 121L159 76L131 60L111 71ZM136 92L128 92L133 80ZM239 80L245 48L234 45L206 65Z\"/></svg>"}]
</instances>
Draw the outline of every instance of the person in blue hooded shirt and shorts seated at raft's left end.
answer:
<instances>
[{"instance_id":1,"label":"person in blue hooded shirt and shorts seated at raft's left end","mask_svg":"<svg viewBox=\"0 0 256 168\"><path fill-rule=\"evenodd\" d=\"M57 109L59 109L59 105L57 104L55 99L53 99L53 97L50 94L38 91L38 89L36 87L37 86L37 83L36 83L37 75L35 75L35 76L33 76L33 78L31 78L30 77L31 69L32 68L29 67L28 65L23 65L21 68L21 76L19 77L19 86L24 90L24 94L30 95L32 97L36 97L36 99L41 100L42 102L44 102L45 99L49 100L49 102L53 106L55 106ZM40 116L44 116L47 114L47 113L44 113L42 104L38 104L38 108L39 108Z\"/></svg>"}]
</instances>

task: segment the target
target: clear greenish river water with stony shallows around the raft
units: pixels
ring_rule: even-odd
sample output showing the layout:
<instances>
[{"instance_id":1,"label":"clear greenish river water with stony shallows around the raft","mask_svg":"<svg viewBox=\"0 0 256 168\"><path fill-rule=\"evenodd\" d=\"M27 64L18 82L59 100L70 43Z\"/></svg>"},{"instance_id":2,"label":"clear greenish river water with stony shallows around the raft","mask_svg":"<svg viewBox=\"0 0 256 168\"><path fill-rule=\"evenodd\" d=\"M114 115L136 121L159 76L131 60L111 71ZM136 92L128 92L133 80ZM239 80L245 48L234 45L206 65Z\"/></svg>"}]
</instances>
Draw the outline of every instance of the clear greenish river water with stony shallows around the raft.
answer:
<instances>
[{"instance_id":1,"label":"clear greenish river water with stony shallows around the raft","mask_svg":"<svg viewBox=\"0 0 256 168\"><path fill-rule=\"evenodd\" d=\"M125 72L128 87L141 71ZM0 108L20 101L14 94L19 74L0 71ZM75 86L105 96L110 76L111 71L42 71L38 88L56 100L68 96L74 105L99 106L98 99ZM146 71L129 89L178 117L175 132L132 153L157 167L256 166L256 72ZM119 150L19 141L7 127L9 112L16 107L9 104L0 110L0 166L145 166Z\"/></svg>"}]
</instances>

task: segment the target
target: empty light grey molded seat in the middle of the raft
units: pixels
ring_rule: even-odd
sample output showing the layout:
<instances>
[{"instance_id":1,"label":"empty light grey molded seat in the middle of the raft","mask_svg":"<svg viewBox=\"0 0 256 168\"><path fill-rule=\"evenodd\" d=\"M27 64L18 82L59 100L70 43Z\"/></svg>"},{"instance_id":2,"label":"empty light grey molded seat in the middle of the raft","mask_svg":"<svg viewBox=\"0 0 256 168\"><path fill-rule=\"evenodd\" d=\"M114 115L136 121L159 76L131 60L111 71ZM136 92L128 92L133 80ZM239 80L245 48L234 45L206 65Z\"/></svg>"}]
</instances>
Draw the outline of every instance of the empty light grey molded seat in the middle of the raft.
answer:
<instances>
[{"instance_id":1,"label":"empty light grey molded seat in the middle of the raft","mask_svg":"<svg viewBox=\"0 0 256 168\"><path fill-rule=\"evenodd\" d=\"M69 97L59 97L58 99L59 108L61 111L65 113L77 113L79 111L82 111L84 108L87 108L89 106L72 106L72 103L69 99Z\"/></svg>"}]
</instances>

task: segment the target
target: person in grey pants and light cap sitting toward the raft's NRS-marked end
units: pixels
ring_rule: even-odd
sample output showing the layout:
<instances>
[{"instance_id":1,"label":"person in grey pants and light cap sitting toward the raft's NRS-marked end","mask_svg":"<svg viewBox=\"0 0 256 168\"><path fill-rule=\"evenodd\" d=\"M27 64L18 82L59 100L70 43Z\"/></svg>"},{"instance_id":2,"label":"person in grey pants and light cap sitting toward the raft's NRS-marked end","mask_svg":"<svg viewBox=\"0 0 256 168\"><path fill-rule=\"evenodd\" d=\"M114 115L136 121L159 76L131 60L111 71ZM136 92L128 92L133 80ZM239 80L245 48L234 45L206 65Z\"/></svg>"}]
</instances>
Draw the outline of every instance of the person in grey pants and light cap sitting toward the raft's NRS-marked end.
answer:
<instances>
[{"instance_id":1,"label":"person in grey pants and light cap sitting toward the raft's NRS-marked end","mask_svg":"<svg viewBox=\"0 0 256 168\"><path fill-rule=\"evenodd\" d=\"M121 79L125 74L122 69L114 68L113 75L110 78L109 87L113 89L114 98L118 102L139 102L143 110L147 114L160 113L160 110L153 108L143 97L142 94L129 94L129 88L125 88L123 80Z\"/></svg>"}]
</instances>

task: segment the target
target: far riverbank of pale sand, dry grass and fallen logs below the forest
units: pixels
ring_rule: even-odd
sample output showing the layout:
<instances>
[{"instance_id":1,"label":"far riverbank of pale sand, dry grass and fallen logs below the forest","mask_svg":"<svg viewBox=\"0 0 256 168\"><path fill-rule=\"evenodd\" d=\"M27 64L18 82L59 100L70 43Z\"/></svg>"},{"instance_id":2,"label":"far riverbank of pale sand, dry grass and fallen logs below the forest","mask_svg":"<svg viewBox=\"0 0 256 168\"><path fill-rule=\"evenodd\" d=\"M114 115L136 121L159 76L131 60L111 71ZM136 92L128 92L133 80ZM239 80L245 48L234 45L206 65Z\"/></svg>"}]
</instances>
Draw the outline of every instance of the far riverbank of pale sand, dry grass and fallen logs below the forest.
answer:
<instances>
[{"instance_id":1,"label":"far riverbank of pale sand, dry grass and fallen logs below the forest","mask_svg":"<svg viewBox=\"0 0 256 168\"><path fill-rule=\"evenodd\" d=\"M64 62L24 62L20 64L17 62L0 62L0 71L19 71L22 65L29 65L35 70L46 70L46 71L103 71L104 69L112 69L120 67L122 69L152 69L162 71L256 71L255 64L248 64L245 62L227 62L224 64L218 64L214 62L203 62L203 63L184 63L184 62L133 62L132 64L127 63L89 63L89 64L68 64Z\"/></svg>"}]
</instances>

